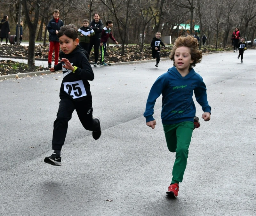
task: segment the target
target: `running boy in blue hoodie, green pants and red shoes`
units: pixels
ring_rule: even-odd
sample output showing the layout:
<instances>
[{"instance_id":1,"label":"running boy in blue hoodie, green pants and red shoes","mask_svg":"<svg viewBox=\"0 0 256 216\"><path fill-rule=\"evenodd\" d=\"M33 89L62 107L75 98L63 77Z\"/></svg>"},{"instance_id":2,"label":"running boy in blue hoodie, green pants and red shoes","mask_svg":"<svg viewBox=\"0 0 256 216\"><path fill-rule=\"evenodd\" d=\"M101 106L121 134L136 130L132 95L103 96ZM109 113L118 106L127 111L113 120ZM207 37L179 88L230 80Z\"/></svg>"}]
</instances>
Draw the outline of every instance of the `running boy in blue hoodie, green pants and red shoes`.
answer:
<instances>
[{"instance_id":1,"label":"running boy in blue hoodie, green pants and red shoes","mask_svg":"<svg viewBox=\"0 0 256 216\"><path fill-rule=\"evenodd\" d=\"M196 107L193 102L193 91L196 101L204 111L202 118L209 121L211 107L207 101L206 87L203 78L194 71L202 59L202 51L198 50L198 42L193 36L179 37L174 42L170 58L173 67L157 78L153 84L146 104L144 117L147 125L155 128L153 118L156 99L162 94L163 105L161 119L169 151L176 152L172 169L172 182L167 194L177 197L179 183L182 182L187 165L188 147L191 142L193 129L200 126L199 118L195 117Z\"/></svg>"}]
</instances>

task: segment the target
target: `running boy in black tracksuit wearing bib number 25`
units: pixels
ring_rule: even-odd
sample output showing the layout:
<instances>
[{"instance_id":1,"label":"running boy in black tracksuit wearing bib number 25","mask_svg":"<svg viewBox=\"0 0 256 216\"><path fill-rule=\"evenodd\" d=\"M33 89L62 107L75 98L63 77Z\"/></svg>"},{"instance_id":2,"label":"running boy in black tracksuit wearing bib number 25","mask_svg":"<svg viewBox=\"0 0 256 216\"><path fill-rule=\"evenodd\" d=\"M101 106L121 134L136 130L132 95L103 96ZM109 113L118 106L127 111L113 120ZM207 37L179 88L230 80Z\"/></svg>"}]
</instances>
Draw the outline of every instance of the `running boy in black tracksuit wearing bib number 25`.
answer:
<instances>
[{"instance_id":1,"label":"running boy in black tracksuit wearing bib number 25","mask_svg":"<svg viewBox=\"0 0 256 216\"><path fill-rule=\"evenodd\" d=\"M68 121L76 110L79 120L86 130L92 131L92 137L100 138L100 118L92 117L92 94L88 80L94 79L92 67L88 61L88 53L78 45L75 25L60 28L60 63L50 68L51 72L63 71L60 87L60 106L57 119L53 124L52 149L53 154L44 159L45 163L61 166L60 151L64 144Z\"/></svg>"}]
</instances>

